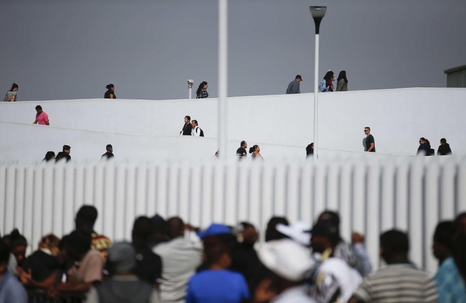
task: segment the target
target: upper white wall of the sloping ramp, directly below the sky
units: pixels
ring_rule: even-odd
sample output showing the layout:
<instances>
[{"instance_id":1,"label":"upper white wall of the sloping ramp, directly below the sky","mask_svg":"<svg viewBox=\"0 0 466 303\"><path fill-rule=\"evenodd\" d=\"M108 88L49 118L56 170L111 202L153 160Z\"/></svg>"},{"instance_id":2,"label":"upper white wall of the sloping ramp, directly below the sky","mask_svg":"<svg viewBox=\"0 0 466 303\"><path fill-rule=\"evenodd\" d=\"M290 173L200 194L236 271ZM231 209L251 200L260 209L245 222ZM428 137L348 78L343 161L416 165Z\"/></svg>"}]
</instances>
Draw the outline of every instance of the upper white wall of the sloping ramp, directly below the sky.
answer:
<instances>
[{"instance_id":1,"label":"upper white wall of the sloping ramp, directly below the sky","mask_svg":"<svg viewBox=\"0 0 466 303\"><path fill-rule=\"evenodd\" d=\"M466 154L464 88L322 93L319 100L319 138L323 149L362 151L363 128L370 126L378 153L414 155L419 137L424 136L435 149L440 138L445 137L454 154ZM32 123L37 104L48 113L53 126L176 135L184 116L190 115L199 121L206 138L216 137L216 99L0 102L0 121ZM232 154L243 139L249 146L276 144L302 151L313 141L312 118L313 94L229 98L228 139L237 142L231 148ZM116 150L120 148L114 145ZM261 150L263 154L267 152L265 146Z\"/></svg>"}]
</instances>

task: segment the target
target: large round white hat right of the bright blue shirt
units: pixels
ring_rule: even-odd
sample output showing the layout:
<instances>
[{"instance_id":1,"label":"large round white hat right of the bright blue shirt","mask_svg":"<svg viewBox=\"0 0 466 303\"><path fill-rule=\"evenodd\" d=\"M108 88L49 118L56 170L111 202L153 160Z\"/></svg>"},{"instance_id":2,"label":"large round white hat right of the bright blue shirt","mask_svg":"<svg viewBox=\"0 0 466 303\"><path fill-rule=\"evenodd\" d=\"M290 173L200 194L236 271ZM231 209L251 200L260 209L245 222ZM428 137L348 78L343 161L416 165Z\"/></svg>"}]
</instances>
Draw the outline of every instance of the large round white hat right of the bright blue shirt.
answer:
<instances>
[{"instance_id":1,"label":"large round white hat right of the bright blue shirt","mask_svg":"<svg viewBox=\"0 0 466 303\"><path fill-rule=\"evenodd\" d=\"M259 259L266 268L289 281L301 281L314 266L310 251L291 239L261 245Z\"/></svg>"}]
</instances>

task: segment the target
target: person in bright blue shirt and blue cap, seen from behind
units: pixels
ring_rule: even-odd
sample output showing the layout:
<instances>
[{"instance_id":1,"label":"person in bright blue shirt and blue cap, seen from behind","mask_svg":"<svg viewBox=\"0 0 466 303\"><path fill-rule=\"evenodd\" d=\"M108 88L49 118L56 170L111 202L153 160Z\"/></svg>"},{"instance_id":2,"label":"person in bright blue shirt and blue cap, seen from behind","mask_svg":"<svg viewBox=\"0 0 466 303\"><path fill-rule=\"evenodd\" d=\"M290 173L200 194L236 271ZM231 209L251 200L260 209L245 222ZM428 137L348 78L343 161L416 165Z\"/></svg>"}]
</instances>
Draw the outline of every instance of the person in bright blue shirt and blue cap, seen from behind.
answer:
<instances>
[{"instance_id":1,"label":"person in bright blue shirt and blue cap, seen from behind","mask_svg":"<svg viewBox=\"0 0 466 303\"><path fill-rule=\"evenodd\" d=\"M246 279L240 273L228 270L232 259L232 242L228 236L217 234L203 238L204 270L191 277L186 303L241 303L250 298Z\"/></svg>"}]
</instances>

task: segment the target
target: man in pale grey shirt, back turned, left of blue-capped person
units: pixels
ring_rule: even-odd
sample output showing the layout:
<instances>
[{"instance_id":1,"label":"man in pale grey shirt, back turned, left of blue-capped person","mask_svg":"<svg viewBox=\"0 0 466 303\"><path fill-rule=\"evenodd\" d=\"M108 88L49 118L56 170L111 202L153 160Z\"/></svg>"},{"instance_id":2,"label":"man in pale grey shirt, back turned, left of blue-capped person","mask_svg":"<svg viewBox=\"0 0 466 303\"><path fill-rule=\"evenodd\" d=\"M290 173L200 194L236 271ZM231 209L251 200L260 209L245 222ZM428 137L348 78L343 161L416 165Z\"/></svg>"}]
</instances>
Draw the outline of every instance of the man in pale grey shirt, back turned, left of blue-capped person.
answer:
<instances>
[{"instance_id":1,"label":"man in pale grey shirt, back turned, left of blue-capped person","mask_svg":"<svg viewBox=\"0 0 466 303\"><path fill-rule=\"evenodd\" d=\"M186 226L179 217L168 219L170 241L160 243L153 249L154 253L162 257L162 302L184 302L189 278L202 262L202 243L184 237Z\"/></svg>"}]
</instances>

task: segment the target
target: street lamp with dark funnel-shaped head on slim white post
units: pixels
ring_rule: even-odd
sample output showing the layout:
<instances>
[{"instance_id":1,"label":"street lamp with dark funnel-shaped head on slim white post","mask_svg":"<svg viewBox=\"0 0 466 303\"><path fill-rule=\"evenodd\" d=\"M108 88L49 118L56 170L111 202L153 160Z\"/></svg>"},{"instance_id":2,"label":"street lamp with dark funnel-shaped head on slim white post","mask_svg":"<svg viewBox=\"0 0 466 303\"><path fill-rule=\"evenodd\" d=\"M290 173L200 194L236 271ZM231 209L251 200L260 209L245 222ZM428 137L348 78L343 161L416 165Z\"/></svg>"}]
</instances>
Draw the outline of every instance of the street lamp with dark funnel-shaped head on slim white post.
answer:
<instances>
[{"instance_id":1,"label":"street lamp with dark funnel-shaped head on slim white post","mask_svg":"<svg viewBox=\"0 0 466 303\"><path fill-rule=\"evenodd\" d=\"M311 16L316 24L316 53L314 62L314 160L317 160L317 108L318 108L318 85L319 85L319 28L320 21L325 16L327 6L309 6Z\"/></svg>"}]
</instances>

